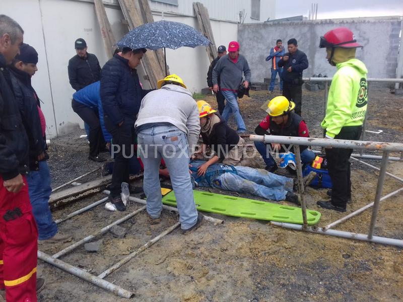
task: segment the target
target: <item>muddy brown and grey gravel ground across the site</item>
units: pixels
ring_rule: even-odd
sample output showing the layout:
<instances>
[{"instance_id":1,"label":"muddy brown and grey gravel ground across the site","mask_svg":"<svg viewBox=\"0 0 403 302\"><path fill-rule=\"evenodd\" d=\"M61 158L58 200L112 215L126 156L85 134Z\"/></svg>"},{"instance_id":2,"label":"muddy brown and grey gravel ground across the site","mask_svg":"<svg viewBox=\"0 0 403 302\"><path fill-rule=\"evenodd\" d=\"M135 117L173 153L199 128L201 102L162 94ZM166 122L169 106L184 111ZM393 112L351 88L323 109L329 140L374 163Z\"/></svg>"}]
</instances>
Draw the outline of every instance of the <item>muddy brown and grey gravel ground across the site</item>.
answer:
<instances>
[{"instance_id":1,"label":"muddy brown and grey gravel ground across the site","mask_svg":"<svg viewBox=\"0 0 403 302\"><path fill-rule=\"evenodd\" d=\"M254 92L251 98L240 101L250 133L264 117L259 107L267 98L267 92ZM368 134L367 139L401 142L403 98L391 95L387 89L371 89L370 98L368 129L384 132ZM206 100L216 105L211 96ZM322 113L323 92L304 91L303 116L311 136L322 135L319 127ZM49 165L53 187L100 165L87 160L88 144L78 138L83 133L77 131L52 140ZM368 162L379 166L378 161ZM403 177L402 164L391 163L388 171ZM372 202L376 189L377 173L358 163L353 163L352 168L353 203L348 205L346 214ZM82 182L99 176L94 173ZM401 183L386 177L383 195L399 187ZM99 193L56 209L54 219L102 197ZM308 188L308 208L322 213L319 226L346 215L318 209L315 202L322 198L325 198L325 190ZM381 203L375 235L403 239L402 202L403 195L399 194ZM128 210L139 207L130 204ZM367 233L371 212L367 210L337 229ZM62 222L59 230L72 234L73 241L78 241L124 214L111 213L101 205ZM132 299L135 301L403 300L403 252L400 248L281 229L266 221L210 215L224 219L225 223L204 222L197 231L186 236L175 230L106 280L135 292ZM143 212L121 224L127 229L124 239L106 234L96 239L103 239L100 252L90 254L80 247L61 259L99 274L176 221L173 213L164 210L162 223L150 225ZM53 254L70 244L41 244L39 249ZM38 264L38 275L46 278L39 301L125 300L42 261Z\"/></svg>"}]
</instances>

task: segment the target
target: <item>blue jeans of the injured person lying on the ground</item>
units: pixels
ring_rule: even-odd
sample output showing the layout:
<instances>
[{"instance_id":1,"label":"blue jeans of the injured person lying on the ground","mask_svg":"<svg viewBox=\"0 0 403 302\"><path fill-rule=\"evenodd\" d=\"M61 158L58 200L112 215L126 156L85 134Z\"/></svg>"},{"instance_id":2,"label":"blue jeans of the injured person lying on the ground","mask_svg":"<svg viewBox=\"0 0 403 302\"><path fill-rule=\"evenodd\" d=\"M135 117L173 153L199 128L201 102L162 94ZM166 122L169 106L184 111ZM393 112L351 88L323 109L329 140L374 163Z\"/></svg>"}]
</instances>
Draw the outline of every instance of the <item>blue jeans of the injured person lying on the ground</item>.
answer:
<instances>
[{"instance_id":1,"label":"blue jeans of the injured person lying on the ground","mask_svg":"<svg viewBox=\"0 0 403 302\"><path fill-rule=\"evenodd\" d=\"M223 173L214 181L218 188L249 193L271 200L284 200L287 192L292 192L294 181L292 178L250 167L235 167L237 174Z\"/></svg>"}]
</instances>

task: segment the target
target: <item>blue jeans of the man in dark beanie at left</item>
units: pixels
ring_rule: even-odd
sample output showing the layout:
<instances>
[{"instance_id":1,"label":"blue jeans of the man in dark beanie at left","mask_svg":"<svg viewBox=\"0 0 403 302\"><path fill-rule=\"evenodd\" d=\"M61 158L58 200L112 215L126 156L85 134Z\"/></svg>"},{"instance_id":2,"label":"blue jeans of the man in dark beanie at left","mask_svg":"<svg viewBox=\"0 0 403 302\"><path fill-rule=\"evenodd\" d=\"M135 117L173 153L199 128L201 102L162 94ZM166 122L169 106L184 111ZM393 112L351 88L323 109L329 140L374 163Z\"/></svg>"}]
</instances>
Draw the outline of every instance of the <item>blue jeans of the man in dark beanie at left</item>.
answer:
<instances>
[{"instance_id":1,"label":"blue jeans of the man in dark beanie at left","mask_svg":"<svg viewBox=\"0 0 403 302\"><path fill-rule=\"evenodd\" d=\"M50 172L46 161L39 162L39 171L31 171L27 175L29 199L32 213L38 225L38 239L46 240L57 233L56 222L53 221L49 209Z\"/></svg>"}]
</instances>

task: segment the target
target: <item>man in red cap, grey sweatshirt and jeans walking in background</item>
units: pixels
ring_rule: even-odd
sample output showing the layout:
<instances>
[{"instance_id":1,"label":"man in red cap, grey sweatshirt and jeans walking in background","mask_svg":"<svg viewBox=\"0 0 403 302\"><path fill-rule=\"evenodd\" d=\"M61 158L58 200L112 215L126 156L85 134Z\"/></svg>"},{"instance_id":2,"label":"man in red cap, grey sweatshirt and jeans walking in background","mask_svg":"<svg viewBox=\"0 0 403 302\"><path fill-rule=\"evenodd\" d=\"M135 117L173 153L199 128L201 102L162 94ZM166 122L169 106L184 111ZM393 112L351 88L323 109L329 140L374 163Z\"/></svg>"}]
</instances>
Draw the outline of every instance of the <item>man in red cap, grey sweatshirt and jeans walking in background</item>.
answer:
<instances>
[{"instance_id":1,"label":"man in red cap, grey sweatshirt and jeans walking in background","mask_svg":"<svg viewBox=\"0 0 403 302\"><path fill-rule=\"evenodd\" d=\"M227 100L222 116L228 122L228 118L233 113L238 133L243 134L246 132L246 127L239 111L237 91L242 83L242 73L245 76L245 88L249 86L251 73L246 58L239 54L238 42L230 42L228 52L218 60L213 69L213 90L215 93L218 92L218 77L220 77L220 89Z\"/></svg>"}]
</instances>

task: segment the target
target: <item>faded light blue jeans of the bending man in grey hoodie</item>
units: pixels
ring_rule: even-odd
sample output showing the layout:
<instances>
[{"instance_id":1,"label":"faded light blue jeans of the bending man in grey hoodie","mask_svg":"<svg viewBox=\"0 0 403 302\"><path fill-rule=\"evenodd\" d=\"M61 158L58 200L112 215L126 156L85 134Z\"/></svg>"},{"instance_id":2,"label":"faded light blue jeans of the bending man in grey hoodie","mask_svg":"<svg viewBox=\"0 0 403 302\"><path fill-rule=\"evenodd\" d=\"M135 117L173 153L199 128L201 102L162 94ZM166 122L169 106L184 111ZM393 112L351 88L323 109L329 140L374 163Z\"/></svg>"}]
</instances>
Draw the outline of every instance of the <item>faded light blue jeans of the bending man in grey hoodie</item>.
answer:
<instances>
[{"instance_id":1,"label":"faded light blue jeans of the bending man in grey hoodie","mask_svg":"<svg viewBox=\"0 0 403 302\"><path fill-rule=\"evenodd\" d=\"M147 212L152 218L161 215L161 184L159 168L164 159L175 193L182 230L197 221L192 184L189 174L189 151L186 134L175 126L152 126L138 133L138 147L144 164L144 193Z\"/></svg>"}]
</instances>

